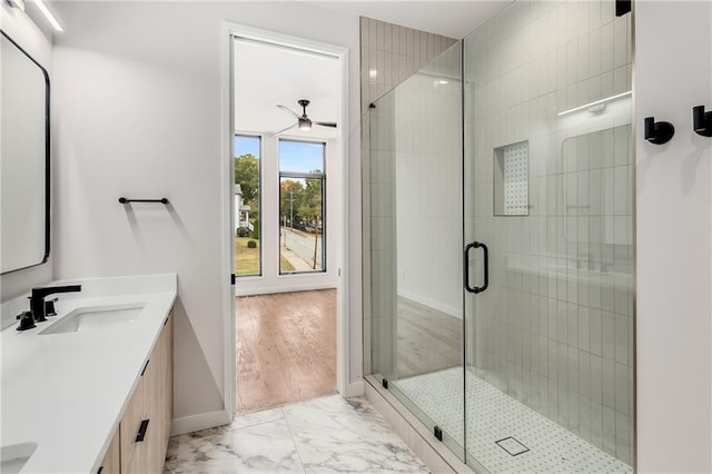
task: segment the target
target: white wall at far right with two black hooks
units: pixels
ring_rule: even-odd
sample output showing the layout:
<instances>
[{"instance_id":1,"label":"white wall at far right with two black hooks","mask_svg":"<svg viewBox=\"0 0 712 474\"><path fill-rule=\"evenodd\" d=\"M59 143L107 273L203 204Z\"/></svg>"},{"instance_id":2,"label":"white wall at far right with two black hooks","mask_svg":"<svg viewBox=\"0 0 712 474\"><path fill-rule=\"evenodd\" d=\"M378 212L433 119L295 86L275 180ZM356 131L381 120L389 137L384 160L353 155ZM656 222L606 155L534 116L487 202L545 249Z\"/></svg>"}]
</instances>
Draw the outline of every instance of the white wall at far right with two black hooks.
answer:
<instances>
[{"instance_id":1,"label":"white wall at far right with two black hooks","mask_svg":"<svg viewBox=\"0 0 712 474\"><path fill-rule=\"evenodd\" d=\"M637 467L712 471L712 3L635 3ZM663 146L643 119L671 121Z\"/></svg>"}]
</instances>

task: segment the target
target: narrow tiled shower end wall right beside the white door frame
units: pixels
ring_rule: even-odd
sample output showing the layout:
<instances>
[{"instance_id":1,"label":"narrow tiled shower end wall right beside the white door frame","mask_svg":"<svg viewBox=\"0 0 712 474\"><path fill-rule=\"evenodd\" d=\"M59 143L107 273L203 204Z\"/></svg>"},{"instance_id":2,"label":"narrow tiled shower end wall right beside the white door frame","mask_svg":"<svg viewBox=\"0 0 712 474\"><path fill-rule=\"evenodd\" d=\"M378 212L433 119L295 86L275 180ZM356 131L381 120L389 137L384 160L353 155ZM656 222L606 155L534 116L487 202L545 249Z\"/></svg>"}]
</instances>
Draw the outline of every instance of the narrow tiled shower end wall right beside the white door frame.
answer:
<instances>
[{"instance_id":1,"label":"narrow tiled shower end wall right beside the white door frame","mask_svg":"<svg viewBox=\"0 0 712 474\"><path fill-rule=\"evenodd\" d=\"M360 19L365 374L392 367L395 348L395 220L394 213L388 211L395 205L395 196L392 194L395 182L395 148L388 145L393 130L385 128L385 124L392 122L392 117L382 117L382 138L372 147L368 105L414 75L453 43L455 40L452 38L365 17ZM390 107L384 102L374 113L386 113L386 109L390 110ZM376 196L373 196L373 192Z\"/></svg>"}]
</instances>

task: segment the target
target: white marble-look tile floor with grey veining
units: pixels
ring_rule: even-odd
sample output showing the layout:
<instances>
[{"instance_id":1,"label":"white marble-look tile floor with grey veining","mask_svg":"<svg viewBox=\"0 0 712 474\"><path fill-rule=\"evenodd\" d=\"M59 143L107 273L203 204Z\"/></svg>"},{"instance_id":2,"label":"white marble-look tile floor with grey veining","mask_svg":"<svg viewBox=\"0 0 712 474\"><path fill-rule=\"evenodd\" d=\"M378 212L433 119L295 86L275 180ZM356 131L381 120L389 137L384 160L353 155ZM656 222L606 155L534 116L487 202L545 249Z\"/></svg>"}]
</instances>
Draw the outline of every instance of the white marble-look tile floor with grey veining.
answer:
<instances>
[{"instance_id":1,"label":"white marble-look tile floor with grey veining","mask_svg":"<svg viewBox=\"0 0 712 474\"><path fill-rule=\"evenodd\" d=\"M364 398L332 395L174 436L165 473L427 473Z\"/></svg>"}]
</instances>

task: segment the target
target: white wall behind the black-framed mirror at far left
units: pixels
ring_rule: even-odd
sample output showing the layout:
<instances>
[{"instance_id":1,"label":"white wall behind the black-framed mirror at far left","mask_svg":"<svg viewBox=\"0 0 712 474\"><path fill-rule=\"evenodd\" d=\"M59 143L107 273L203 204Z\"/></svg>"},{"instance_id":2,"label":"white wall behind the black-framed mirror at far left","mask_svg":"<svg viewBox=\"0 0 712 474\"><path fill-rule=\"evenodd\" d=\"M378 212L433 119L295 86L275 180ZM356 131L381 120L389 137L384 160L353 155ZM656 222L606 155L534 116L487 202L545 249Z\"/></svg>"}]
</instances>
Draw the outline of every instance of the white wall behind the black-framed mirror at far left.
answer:
<instances>
[{"instance_id":1,"label":"white wall behind the black-framed mirror at far left","mask_svg":"<svg viewBox=\"0 0 712 474\"><path fill-rule=\"evenodd\" d=\"M42 65L50 76L50 91L52 87L52 43L26 12L10 8L1 2L0 28L13 41L22 47L37 62ZM53 160L53 157L52 157ZM50 199L51 201L51 199ZM50 259L36 267L13 271L0 277L1 300L6 302L27 293L33 286L43 285L52 279L55 249L50 243Z\"/></svg>"}]
</instances>

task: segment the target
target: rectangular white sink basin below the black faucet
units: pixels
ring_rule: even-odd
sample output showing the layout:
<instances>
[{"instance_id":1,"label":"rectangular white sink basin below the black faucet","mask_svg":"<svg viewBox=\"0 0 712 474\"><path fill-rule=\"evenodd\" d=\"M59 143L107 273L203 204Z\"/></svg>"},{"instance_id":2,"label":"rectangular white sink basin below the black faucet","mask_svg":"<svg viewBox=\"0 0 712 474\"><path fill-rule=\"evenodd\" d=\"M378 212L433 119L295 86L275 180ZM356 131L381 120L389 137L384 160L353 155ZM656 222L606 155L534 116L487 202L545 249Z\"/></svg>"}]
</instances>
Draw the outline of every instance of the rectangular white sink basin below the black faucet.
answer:
<instances>
[{"instance_id":1,"label":"rectangular white sink basin below the black faucet","mask_svg":"<svg viewBox=\"0 0 712 474\"><path fill-rule=\"evenodd\" d=\"M76 333L131 324L141 314L145 306L144 303L135 303L77 308L39 334Z\"/></svg>"}]
</instances>

